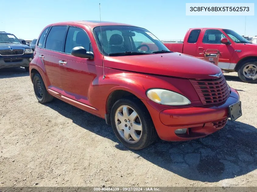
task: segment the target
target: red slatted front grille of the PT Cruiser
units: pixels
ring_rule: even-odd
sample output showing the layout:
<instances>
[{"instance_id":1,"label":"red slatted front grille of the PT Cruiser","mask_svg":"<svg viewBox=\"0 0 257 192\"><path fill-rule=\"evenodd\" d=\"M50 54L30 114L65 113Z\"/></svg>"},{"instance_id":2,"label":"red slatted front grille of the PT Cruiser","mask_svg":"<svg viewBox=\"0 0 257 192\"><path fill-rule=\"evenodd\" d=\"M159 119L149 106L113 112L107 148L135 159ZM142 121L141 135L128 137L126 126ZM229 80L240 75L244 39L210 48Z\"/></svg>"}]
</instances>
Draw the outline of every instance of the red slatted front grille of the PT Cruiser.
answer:
<instances>
[{"instance_id":1,"label":"red slatted front grille of the PT Cruiser","mask_svg":"<svg viewBox=\"0 0 257 192\"><path fill-rule=\"evenodd\" d=\"M224 75L216 79L190 79L204 105L222 103L230 95Z\"/></svg>"}]
</instances>

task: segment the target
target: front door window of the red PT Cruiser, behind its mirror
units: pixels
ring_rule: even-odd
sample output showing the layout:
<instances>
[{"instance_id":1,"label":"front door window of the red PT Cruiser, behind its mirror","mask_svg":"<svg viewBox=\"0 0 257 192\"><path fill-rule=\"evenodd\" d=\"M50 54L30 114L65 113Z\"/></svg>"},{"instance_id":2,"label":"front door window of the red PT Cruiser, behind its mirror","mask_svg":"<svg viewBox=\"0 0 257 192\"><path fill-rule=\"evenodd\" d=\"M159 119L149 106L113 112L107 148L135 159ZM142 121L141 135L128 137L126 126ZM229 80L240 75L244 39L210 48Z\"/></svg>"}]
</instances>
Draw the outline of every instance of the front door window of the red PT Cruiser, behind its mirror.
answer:
<instances>
[{"instance_id":1,"label":"front door window of the red PT Cruiser, behind its mirror","mask_svg":"<svg viewBox=\"0 0 257 192\"><path fill-rule=\"evenodd\" d=\"M64 52L70 54L71 49L78 46L84 47L87 51L92 51L89 48L90 40L86 32L77 27L69 27Z\"/></svg>"}]
</instances>

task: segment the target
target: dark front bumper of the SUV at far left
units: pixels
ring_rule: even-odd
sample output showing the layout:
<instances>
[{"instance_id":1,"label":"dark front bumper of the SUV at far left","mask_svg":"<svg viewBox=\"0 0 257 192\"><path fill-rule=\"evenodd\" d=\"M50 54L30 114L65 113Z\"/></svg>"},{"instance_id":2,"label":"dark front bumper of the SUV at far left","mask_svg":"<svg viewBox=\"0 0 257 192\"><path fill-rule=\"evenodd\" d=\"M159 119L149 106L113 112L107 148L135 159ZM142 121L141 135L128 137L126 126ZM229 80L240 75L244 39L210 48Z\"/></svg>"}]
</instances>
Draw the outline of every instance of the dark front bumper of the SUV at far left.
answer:
<instances>
[{"instance_id":1,"label":"dark front bumper of the SUV at far left","mask_svg":"<svg viewBox=\"0 0 257 192\"><path fill-rule=\"evenodd\" d=\"M11 67L28 67L30 58L33 59L33 53L21 56L0 56L0 69Z\"/></svg>"}]
</instances>

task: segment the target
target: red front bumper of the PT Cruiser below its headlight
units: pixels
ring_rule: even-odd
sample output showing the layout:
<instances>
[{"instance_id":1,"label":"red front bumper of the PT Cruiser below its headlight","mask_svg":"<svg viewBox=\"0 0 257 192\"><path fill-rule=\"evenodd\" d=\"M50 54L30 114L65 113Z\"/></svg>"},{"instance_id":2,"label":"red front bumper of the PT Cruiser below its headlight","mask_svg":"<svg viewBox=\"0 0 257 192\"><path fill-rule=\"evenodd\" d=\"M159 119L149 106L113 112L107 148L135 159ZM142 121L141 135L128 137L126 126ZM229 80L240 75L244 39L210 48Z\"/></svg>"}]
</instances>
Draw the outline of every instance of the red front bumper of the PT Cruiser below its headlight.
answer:
<instances>
[{"instance_id":1,"label":"red front bumper of the PT Cruiser below its headlight","mask_svg":"<svg viewBox=\"0 0 257 192\"><path fill-rule=\"evenodd\" d=\"M225 103L219 106L205 105L182 109L153 110L149 101L143 101L148 108L158 136L167 141L183 141L207 136L222 129L229 117L229 106L239 101L238 93L231 88ZM184 134L176 129L188 128Z\"/></svg>"}]
</instances>

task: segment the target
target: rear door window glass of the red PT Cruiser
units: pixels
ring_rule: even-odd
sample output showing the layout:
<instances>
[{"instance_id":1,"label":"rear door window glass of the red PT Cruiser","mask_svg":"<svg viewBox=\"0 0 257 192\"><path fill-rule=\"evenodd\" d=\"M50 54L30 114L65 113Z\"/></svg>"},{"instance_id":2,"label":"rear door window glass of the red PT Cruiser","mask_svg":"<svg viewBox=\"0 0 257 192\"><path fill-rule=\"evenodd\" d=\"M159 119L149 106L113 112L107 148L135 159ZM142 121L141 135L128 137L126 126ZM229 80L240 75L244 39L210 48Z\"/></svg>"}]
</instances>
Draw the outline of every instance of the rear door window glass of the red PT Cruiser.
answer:
<instances>
[{"instance_id":1,"label":"rear door window glass of the red PT Cruiser","mask_svg":"<svg viewBox=\"0 0 257 192\"><path fill-rule=\"evenodd\" d=\"M53 51L61 51L62 42L64 40L64 35L66 32L66 26L54 26L51 28L45 48Z\"/></svg>"}]
</instances>

